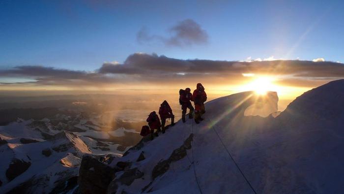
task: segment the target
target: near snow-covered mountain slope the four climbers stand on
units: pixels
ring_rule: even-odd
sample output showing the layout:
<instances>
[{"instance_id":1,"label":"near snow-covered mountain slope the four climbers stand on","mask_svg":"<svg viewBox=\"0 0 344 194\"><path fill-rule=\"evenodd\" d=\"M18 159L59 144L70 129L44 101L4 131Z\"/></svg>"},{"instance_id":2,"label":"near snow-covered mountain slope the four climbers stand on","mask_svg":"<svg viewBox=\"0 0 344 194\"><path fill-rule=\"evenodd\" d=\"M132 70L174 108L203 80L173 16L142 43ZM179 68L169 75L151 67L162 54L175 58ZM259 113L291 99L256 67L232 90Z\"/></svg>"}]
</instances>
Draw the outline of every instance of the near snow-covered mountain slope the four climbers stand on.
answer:
<instances>
[{"instance_id":1,"label":"near snow-covered mountain slope the four climbers stand on","mask_svg":"<svg viewBox=\"0 0 344 194\"><path fill-rule=\"evenodd\" d=\"M343 193L344 80L306 92L278 116L244 116L257 102L276 103L276 93L209 101L201 124L177 122L109 165L84 157L79 192Z\"/></svg>"}]
</instances>

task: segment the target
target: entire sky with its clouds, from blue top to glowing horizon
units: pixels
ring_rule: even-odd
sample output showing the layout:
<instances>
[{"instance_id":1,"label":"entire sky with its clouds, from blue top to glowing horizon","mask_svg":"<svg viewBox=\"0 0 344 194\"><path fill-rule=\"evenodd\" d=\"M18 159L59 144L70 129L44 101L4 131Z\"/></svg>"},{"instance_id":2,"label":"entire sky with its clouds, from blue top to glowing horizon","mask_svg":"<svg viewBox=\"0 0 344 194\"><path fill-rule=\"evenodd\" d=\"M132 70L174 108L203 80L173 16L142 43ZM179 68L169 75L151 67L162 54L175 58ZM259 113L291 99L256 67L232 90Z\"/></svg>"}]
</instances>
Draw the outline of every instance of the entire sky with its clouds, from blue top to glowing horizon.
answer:
<instances>
[{"instance_id":1,"label":"entire sky with its clouds, from blue top to glowing horizon","mask_svg":"<svg viewBox=\"0 0 344 194\"><path fill-rule=\"evenodd\" d=\"M304 91L343 77L343 8L339 0L0 0L0 87L158 89L204 79L226 91L269 74ZM276 59L295 61L258 63Z\"/></svg>"}]
</instances>

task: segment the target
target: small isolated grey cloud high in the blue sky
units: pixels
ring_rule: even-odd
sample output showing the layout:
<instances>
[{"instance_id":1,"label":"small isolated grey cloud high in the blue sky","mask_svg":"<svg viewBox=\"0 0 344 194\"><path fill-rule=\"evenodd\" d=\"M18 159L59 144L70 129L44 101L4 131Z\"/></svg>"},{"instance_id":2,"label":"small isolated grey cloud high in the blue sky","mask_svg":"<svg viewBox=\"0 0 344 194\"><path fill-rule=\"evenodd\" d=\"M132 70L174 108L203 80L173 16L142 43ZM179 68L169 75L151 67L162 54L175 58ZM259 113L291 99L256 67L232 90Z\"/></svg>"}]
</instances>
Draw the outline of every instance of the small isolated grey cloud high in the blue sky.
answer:
<instances>
[{"instance_id":1,"label":"small isolated grey cloud high in the blue sky","mask_svg":"<svg viewBox=\"0 0 344 194\"><path fill-rule=\"evenodd\" d=\"M139 43L161 42L166 46L191 46L194 44L206 44L208 42L208 34L194 20L186 19L175 26L172 26L168 32L171 36L150 35L147 28L143 27L136 34Z\"/></svg>"}]
</instances>

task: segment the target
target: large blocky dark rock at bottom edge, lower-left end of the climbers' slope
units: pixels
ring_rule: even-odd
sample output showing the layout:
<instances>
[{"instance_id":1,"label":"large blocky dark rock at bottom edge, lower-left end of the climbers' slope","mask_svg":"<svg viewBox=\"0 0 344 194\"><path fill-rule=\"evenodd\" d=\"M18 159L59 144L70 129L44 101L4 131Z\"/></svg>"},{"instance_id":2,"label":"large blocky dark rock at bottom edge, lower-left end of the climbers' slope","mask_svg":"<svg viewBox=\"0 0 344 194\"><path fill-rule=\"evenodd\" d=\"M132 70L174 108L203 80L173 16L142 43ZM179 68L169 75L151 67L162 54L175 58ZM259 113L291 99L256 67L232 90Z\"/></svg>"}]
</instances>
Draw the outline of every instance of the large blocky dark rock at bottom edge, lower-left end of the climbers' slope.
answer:
<instances>
[{"instance_id":1,"label":"large blocky dark rock at bottom edge, lower-left end of the climbers' slope","mask_svg":"<svg viewBox=\"0 0 344 194\"><path fill-rule=\"evenodd\" d=\"M83 157L79 170L79 190L83 194L105 194L114 176L115 169L86 155Z\"/></svg>"}]
</instances>

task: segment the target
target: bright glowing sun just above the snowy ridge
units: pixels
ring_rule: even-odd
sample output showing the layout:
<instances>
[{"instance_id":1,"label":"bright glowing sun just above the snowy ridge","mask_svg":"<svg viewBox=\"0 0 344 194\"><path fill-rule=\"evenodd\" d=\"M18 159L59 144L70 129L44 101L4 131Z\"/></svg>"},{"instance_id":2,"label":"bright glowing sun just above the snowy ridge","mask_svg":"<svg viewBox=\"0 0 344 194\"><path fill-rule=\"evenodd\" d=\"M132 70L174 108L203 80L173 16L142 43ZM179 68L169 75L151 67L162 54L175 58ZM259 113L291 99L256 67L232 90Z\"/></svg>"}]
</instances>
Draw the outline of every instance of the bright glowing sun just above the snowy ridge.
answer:
<instances>
[{"instance_id":1,"label":"bright glowing sun just above the snowy ridge","mask_svg":"<svg viewBox=\"0 0 344 194\"><path fill-rule=\"evenodd\" d=\"M266 95L268 91L278 92L279 87L274 84L274 77L257 77L244 86L245 91L255 91L258 95Z\"/></svg>"}]
</instances>

